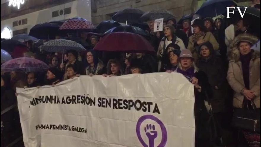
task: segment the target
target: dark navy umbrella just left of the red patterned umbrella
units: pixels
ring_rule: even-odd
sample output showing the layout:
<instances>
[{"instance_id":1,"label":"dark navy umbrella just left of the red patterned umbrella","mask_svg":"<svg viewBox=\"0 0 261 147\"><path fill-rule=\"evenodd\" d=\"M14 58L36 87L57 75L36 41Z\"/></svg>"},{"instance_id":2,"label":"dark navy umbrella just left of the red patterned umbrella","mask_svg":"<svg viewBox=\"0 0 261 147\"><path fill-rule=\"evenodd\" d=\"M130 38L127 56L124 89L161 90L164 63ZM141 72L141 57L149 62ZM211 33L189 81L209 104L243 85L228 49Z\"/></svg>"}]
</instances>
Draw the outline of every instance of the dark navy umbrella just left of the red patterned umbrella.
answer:
<instances>
[{"instance_id":1,"label":"dark navy umbrella just left of the red patterned umbrella","mask_svg":"<svg viewBox=\"0 0 261 147\"><path fill-rule=\"evenodd\" d=\"M40 23L32 27L29 35L38 39L55 39L59 28L57 23Z\"/></svg>"}]
</instances>

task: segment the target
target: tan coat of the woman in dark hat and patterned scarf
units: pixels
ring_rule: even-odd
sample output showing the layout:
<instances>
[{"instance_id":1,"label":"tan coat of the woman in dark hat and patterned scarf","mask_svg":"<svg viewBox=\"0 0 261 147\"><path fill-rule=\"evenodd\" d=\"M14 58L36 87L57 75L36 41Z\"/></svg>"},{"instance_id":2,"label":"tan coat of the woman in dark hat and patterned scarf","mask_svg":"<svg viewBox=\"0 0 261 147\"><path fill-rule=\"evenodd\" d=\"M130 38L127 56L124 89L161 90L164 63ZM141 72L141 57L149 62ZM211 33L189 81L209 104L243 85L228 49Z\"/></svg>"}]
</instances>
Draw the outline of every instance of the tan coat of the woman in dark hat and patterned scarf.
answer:
<instances>
[{"instance_id":1,"label":"tan coat of the woman in dark hat and patterned scarf","mask_svg":"<svg viewBox=\"0 0 261 147\"><path fill-rule=\"evenodd\" d=\"M219 43L217 42L217 40L215 39L215 37L213 36L213 34L211 32L206 32L205 36L201 37L204 42L209 41L212 45L213 45L213 49L214 50L218 50L219 49ZM193 35L189 37L189 45L187 47L187 49L189 49L195 59L195 61L198 60L198 50L196 48L196 42L193 42ZM197 45L199 46L199 45Z\"/></svg>"}]
</instances>

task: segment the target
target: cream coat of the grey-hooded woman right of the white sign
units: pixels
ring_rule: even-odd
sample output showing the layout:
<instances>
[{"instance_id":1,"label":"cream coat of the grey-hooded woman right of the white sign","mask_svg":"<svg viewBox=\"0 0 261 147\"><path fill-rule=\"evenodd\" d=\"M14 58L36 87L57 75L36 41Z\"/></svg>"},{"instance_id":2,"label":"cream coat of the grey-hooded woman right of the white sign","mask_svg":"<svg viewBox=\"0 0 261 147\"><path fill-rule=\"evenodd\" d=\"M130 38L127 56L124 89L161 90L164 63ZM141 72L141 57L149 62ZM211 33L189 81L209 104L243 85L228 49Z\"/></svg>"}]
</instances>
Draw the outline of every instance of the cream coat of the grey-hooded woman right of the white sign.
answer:
<instances>
[{"instance_id":1,"label":"cream coat of the grey-hooded woman right of the white sign","mask_svg":"<svg viewBox=\"0 0 261 147\"><path fill-rule=\"evenodd\" d=\"M176 40L174 40L176 38ZM165 45L165 41L166 41L166 37L163 37L160 41L160 45L159 45L159 49L157 52L157 58L160 59L162 57L162 54L164 52L164 50L166 49L166 45ZM179 37L174 37L172 40L172 43L179 45L180 50L185 50L186 47L182 41L182 39L180 39ZM162 50L162 54L160 54L159 50Z\"/></svg>"}]
</instances>

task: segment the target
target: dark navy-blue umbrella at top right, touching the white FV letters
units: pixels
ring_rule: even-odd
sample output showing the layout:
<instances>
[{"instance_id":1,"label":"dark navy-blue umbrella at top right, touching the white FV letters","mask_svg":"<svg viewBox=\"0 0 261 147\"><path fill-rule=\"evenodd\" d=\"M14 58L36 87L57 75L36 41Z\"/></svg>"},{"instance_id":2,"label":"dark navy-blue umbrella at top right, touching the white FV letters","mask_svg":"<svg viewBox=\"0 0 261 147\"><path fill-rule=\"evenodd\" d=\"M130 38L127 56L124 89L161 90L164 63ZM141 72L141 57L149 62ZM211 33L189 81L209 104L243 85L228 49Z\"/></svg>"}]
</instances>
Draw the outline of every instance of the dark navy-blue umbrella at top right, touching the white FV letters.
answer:
<instances>
[{"instance_id":1,"label":"dark navy-blue umbrella at top right, touching the white FV letters","mask_svg":"<svg viewBox=\"0 0 261 147\"><path fill-rule=\"evenodd\" d=\"M237 4L233 0L207 0L201 5L195 14L198 14L203 18L215 17L226 12L226 7L230 7L231 5L236 6Z\"/></svg>"}]
</instances>

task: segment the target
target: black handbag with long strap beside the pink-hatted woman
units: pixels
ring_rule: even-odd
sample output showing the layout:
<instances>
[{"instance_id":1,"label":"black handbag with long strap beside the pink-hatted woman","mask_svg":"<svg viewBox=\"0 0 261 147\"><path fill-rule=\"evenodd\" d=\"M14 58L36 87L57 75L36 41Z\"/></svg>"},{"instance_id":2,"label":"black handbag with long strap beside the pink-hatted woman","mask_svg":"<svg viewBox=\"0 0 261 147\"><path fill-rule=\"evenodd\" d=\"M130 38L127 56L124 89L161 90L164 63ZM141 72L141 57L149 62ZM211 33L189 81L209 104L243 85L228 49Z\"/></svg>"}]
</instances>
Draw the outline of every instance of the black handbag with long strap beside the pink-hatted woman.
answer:
<instances>
[{"instance_id":1,"label":"black handbag with long strap beside the pink-hatted woman","mask_svg":"<svg viewBox=\"0 0 261 147\"><path fill-rule=\"evenodd\" d=\"M207 105L206 108L209 113L209 119L207 121L207 129L209 132L210 142L215 146L221 147L223 146L223 139L220 133L221 128L219 127L217 120L213 115L212 105L206 91L205 91L205 95L206 95L205 105Z\"/></svg>"}]
</instances>

